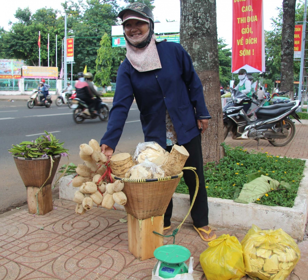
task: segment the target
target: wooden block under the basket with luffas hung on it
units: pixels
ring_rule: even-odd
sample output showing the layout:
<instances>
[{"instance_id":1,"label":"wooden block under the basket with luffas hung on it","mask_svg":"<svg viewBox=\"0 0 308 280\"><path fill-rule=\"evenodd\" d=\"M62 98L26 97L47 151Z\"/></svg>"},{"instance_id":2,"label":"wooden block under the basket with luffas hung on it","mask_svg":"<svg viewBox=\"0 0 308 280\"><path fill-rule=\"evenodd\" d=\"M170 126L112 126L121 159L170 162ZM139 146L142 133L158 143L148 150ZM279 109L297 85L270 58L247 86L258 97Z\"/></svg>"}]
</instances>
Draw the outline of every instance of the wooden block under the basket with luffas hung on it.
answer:
<instances>
[{"instance_id":1,"label":"wooden block under the basket with luffas hung on it","mask_svg":"<svg viewBox=\"0 0 308 280\"><path fill-rule=\"evenodd\" d=\"M164 232L163 216L148 218L141 221L128 214L128 250L140 261L153 258L154 250L164 245L163 236L153 233L156 231L160 234Z\"/></svg>"}]
</instances>

